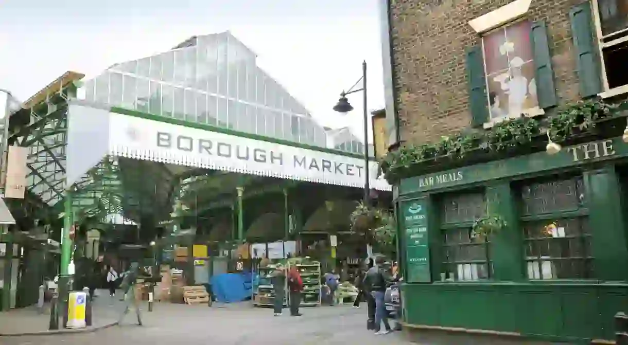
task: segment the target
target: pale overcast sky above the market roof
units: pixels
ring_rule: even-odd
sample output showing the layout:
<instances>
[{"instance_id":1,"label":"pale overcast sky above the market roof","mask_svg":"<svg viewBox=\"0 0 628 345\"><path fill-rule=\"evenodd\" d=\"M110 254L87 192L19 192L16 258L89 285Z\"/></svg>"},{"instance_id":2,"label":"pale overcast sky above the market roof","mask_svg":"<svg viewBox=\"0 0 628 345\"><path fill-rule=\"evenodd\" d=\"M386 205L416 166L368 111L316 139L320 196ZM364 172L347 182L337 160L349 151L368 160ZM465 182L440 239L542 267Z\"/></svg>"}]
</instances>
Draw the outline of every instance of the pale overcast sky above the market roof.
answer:
<instances>
[{"instance_id":1,"label":"pale overcast sky above the market roof","mask_svg":"<svg viewBox=\"0 0 628 345\"><path fill-rule=\"evenodd\" d=\"M0 88L26 100L68 70L94 77L117 62L230 30L257 64L321 124L362 138L362 97L333 112L367 61L367 109L384 107L376 0L2 0Z\"/></svg>"}]
</instances>

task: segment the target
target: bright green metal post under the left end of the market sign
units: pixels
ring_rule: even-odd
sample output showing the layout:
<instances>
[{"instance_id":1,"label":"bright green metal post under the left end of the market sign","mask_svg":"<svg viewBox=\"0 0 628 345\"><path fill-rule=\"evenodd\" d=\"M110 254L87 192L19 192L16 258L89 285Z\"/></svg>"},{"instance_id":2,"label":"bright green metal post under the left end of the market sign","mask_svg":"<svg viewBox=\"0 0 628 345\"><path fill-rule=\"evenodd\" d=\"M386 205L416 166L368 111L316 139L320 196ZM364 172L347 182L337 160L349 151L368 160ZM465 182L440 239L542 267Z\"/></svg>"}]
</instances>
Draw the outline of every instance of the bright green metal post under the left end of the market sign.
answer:
<instances>
[{"instance_id":1,"label":"bright green metal post under the left end of the market sign","mask_svg":"<svg viewBox=\"0 0 628 345\"><path fill-rule=\"evenodd\" d=\"M65 191L65 200L63 202L63 233L61 236L61 267L59 268L59 308L58 311L65 312L67 310L68 292L70 291L70 275L68 272L68 266L70 266L70 258L72 257L72 240L70 239L70 228L73 224L72 215L72 191L67 189ZM65 323L63 324L65 327Z\"/></svg>"}]
</instances>

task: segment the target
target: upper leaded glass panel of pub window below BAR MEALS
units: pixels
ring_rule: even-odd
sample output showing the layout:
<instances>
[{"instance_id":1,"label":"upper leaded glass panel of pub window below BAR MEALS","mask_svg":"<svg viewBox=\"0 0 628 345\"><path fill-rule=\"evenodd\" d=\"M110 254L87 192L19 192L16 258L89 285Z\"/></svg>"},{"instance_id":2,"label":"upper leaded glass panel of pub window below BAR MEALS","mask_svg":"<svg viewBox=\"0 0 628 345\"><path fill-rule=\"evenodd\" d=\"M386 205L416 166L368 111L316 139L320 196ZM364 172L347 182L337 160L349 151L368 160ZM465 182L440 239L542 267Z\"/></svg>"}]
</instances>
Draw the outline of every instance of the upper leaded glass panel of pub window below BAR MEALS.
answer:
<instances>
[{"instance_id":1,"label":"upper leaded glass panel of pub window below BAR MEALS","mask_svg":"<svg viewBox=\"0 0 628 345\"><path fill-rule=\"evenodd\" d=\"M453 194L443 198L441 206L443 223L464 223L484 216L484 194Z\"/></svg>"}]
</instances>

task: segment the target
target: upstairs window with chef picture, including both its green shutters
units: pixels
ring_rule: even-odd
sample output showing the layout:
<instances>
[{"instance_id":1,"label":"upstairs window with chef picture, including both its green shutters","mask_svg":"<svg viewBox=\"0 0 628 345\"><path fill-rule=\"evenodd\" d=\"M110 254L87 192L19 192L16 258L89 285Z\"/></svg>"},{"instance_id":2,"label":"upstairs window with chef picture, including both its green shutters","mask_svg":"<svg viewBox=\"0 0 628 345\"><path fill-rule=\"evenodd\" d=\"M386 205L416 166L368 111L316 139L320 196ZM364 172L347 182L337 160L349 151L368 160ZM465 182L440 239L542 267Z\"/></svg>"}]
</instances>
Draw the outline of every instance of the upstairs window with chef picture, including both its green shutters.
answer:
<instances>
[{"instance_id":1,"label":"upstairs window with chef picture, including both its green shutters","mask_svg":"<svg viewBox=\"0 0 628 345\"><path fill-rule=\"evenodd\" d=\"M472 124L540 115L558 103L544 21L522 20L482 34L467 51Z\"/></svg>"}]
</instances>

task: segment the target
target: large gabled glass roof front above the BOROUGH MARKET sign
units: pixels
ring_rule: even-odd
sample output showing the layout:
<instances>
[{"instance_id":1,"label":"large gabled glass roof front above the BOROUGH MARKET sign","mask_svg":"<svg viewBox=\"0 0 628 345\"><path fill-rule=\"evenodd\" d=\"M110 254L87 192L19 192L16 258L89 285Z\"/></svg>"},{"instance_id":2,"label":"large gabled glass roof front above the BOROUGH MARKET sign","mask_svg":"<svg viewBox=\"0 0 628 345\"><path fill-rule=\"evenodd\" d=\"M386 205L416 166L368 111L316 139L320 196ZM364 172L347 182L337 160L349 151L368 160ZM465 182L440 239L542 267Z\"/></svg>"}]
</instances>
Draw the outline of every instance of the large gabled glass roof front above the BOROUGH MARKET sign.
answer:
<instances>
[{"instance_id":1,"label":"large gabled glass roof front above the BOROUGH MARKET sign","mask_svg":"<svg viewBox=\"0 0 628 345\"><path fill-rule=\"evenodd\" d=\"M229 31L111 66L84 85L93 102L341 151L327 132Z\"/></svg>"}]
</instances>

